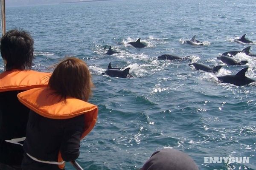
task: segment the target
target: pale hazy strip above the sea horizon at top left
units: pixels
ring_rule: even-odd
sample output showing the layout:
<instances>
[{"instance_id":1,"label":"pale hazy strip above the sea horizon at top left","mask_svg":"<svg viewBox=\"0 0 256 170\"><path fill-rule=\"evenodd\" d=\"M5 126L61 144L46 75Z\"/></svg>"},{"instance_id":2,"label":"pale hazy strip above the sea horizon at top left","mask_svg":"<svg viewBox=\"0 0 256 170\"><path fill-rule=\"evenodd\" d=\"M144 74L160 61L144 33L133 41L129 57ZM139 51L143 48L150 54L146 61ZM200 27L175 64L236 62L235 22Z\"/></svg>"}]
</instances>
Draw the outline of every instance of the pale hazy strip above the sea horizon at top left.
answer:
<instances>
[{"instance_id":1,"label":"pale hazy strip above the sea horizon at top left","mask_svg":"<svg viewBox=\"0 0 256 170\"><path fill-rule=\"evenodd\" d=\"M6 0L6 6L30 6L42 4L56 4L64 2L76 2L81 0ZM84 0L86 1L86 0Z\"/></svg>"}]
</instances>

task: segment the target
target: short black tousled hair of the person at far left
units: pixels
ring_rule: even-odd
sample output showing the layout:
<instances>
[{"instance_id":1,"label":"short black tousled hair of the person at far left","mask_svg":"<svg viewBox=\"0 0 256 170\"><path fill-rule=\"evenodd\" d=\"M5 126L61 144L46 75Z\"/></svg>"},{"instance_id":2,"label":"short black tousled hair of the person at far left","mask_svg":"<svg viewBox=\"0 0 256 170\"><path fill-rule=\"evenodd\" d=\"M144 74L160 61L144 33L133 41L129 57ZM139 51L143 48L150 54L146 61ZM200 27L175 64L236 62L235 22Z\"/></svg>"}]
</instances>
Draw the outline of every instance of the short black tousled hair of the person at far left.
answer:
<instances>
[{"instance_id":1,"label":"short black tousled hair of the person at far left","mask_svg":"<svg viewBox=\"0 0 256 170\"><path fill-rule=\"evenodd\" d=\"M6 70L32 67L34 40L26 31L10 30L1 38L1 55L6 60Z\"/></svg>"}]
</instances>

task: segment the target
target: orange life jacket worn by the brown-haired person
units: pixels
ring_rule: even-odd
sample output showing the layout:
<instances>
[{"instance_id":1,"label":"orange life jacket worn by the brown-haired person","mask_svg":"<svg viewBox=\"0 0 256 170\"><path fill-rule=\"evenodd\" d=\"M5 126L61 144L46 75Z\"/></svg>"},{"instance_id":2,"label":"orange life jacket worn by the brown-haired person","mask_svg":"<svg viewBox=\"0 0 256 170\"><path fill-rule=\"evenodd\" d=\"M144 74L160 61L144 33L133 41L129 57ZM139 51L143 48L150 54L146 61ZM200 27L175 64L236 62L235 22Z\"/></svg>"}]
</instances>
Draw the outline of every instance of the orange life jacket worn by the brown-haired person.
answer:
<instances>
[{"instance_id":1,"label":"orange life jacket worn by the brown-haired person","mask_svg":"<svg viewBox=\"0 0 256 170\"><path fill-rule=\"evenodd\" d=\"M50 88L34 88L21 92L17 96L23 105L35 111L35 113L50 119L69 119L84 114L85 126L81 139L96 124L98 115L98 107L96 105L71 97L66 100L61 99ZM58 162L61 161L63 159L59 153ZM65 164L58 166L60 169L64 169Z\"/></svg>"}]
</instances>

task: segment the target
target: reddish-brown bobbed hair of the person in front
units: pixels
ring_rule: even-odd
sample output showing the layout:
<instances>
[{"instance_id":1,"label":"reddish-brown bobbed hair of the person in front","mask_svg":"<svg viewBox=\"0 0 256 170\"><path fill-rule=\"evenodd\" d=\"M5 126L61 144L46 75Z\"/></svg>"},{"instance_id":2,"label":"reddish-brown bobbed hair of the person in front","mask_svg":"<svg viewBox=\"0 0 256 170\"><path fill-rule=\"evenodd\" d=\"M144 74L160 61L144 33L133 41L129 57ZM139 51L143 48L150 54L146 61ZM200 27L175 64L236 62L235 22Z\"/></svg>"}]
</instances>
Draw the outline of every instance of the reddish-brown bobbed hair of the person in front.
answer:
<instances>
[{"instance_id":1,"label":"reddish-brown bobbed hair of the person in front","mask_svg":"<svg viewBox=\"0 0 256 170\"><path fill-rule=\"evenodd\" d=\"M60 62L49 79L49 88L64 99L69 96L87 102L92 87L93 82L86 63L75 57Z\"/></svg>"}]
</instances>

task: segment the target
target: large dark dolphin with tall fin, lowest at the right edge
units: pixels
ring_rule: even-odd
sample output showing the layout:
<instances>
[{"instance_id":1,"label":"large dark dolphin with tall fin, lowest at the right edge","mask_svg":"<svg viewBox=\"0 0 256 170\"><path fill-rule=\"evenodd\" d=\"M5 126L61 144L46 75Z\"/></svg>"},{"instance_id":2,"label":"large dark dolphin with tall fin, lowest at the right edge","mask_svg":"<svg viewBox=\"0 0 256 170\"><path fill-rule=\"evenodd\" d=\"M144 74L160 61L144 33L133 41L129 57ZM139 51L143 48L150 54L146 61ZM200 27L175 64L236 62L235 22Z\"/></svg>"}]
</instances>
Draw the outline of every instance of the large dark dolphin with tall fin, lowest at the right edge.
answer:
<instances>
[{"instance_id":1,"label":"large dark dolphin with tall fin, lowest at the right edge","mask_svg":"<svg viewBox=\"0 0 256 170\"><path fill-rule=\"evenodd\" d=\"M255 82L255 80L245 76L247 69L248 67L241 69L236 75L226 75L217 78L219 82L222 83L230 83L233 85L248 85L251 82Z\"/></svg>"}]
</instances>

